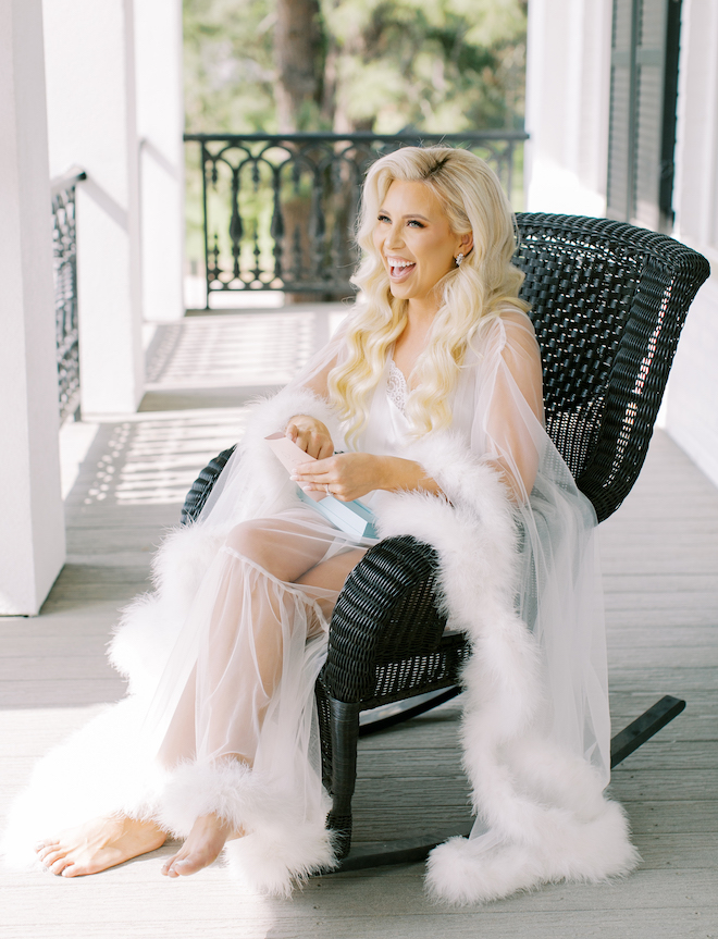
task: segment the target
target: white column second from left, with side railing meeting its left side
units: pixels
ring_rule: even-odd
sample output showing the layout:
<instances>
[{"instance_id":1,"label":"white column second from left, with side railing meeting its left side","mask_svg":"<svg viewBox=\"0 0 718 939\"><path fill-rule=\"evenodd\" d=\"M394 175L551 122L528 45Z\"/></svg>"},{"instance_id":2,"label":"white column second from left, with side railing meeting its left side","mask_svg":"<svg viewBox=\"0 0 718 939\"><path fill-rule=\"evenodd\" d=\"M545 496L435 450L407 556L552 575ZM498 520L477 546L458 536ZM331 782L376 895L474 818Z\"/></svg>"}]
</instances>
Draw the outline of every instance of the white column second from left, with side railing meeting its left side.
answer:
<instances>
[{"instance_id":1,"label":"white column second from left, with side railing meeting its left side","mask_svg":"<svg viewBox=\"0 0 718 939\"><path fill-rule=\"evenodd\" d=\"M143 394L139 146L133 0L44 0L51 175L77 191L81 403L135 410Z\"/></svg>"}]
</instances>

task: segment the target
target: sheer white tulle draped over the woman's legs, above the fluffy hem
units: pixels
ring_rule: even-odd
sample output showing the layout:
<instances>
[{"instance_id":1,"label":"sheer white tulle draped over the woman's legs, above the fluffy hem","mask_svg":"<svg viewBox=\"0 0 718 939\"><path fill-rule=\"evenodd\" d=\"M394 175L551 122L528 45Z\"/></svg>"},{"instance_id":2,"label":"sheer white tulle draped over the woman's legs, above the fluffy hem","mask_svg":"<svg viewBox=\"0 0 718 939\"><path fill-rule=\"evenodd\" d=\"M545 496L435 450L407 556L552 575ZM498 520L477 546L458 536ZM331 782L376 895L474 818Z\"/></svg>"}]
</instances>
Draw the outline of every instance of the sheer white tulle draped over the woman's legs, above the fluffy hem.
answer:
<instances>
[{"instance_id":1,"label":"sheer white tulle draped over the woman's legs, above the fluffy hem","mask_svg":"<svg viewBox=\"0 0 718 939\"><path fill-rule=\"evenodd\" d=\"M145 720L165 768L237 759L299 795L315 816L314 682L334 604L364 552L361 540L304 506L231 529Z\"/></svg>"}]
</instances>

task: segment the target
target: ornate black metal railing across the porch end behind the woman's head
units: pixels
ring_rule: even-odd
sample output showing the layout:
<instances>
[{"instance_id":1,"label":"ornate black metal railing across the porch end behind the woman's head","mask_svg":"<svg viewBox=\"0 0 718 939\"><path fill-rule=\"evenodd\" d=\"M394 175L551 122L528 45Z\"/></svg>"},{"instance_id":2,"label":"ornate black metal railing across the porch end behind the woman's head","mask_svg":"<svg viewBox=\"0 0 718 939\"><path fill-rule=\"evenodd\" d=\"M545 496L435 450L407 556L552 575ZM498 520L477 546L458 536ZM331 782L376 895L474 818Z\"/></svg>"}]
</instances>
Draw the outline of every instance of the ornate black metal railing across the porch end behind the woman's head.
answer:
<instances>
[{"instance_id":1,"label":"ornate black metal railing across the porch end behind the woman's head","mask_svg":"<svg viewBox=\"0 0 718 939\"><path fill-rule=\"evenodd\" d=\"M523 131L423 134L421 143L467 147L506 190ZM186 134L200 148L207 308L213 293L350 294L355 220L368 165L420 143L418 135Z\"/></svg>"}]
</instances>

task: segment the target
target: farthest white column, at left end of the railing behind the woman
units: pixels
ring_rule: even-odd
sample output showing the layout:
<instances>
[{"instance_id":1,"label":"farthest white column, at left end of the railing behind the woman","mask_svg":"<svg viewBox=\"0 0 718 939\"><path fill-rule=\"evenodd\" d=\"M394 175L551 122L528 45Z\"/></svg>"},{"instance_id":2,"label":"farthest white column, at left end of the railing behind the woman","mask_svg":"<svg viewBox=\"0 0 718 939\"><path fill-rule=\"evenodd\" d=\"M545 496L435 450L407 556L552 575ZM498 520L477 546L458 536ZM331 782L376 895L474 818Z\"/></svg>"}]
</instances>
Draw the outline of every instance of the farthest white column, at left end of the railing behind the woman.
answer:
<instances>
[{"instance_id":1,"label":"farthest white column, at left end of the railing behind the woman","mask_svg":"<svg viewBox=\"0 0 718 939\"><path fill-rule=\"evenodd\" d=\"M137 131L146 320L184 316L181 0L135 0Z\"/></svg>"}]
</instances>

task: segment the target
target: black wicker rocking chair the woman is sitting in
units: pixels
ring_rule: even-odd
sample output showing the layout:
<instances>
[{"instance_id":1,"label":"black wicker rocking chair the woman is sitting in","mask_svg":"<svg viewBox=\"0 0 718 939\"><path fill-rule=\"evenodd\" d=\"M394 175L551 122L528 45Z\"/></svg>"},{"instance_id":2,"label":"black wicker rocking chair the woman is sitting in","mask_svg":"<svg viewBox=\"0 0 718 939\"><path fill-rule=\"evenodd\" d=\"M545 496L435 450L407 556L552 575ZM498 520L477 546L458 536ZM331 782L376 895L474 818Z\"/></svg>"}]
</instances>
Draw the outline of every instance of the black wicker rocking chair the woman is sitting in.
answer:
<instances>
[{"instance_id":1,"label":"black wicker rocking chair the woman is sitting in","mask_svg":"<svg viewBox=\"0 0 718 939\"><path fill-rule=\"evenodd\" d=\"M639 475L708 262L671 238L618 222L523 213L518 226L515 260L527 275L521 296L531 304L542 349L547 430L603 521ZM199 514L231 453L202 470L183 521ZM421 714L461 690L468 643L444 632L436 574L430 545L387 539L349 574L332 617L315 694L324 783L333 798L327 826L338 836L343 870L423 860L440 840L470 827L350 851L359 734ZM666 696L618 733L611 766L684 706Z\"/></svg>"}]
</instances>

